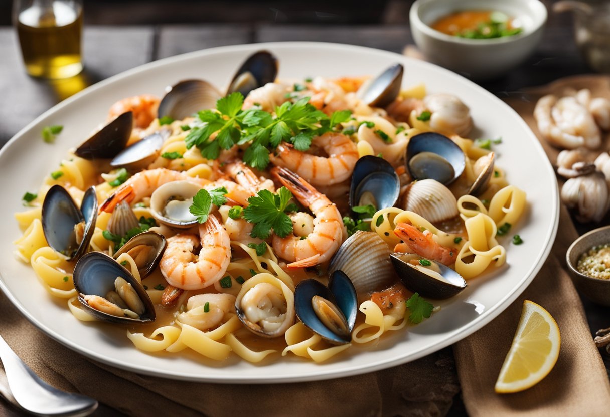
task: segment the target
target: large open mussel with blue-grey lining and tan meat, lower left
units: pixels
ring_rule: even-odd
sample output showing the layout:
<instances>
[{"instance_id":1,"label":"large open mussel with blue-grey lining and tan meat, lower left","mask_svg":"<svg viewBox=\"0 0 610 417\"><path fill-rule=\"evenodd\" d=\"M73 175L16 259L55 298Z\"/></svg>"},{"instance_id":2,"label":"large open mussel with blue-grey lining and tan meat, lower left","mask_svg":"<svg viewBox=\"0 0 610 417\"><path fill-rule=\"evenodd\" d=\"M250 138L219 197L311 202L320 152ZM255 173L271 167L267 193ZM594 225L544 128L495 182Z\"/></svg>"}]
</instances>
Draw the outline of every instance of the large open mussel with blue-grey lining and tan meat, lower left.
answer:
<instances>
[{"instance_id":1,"label":"large open mussel with blue-grey lining and tan meat, lower left","mask_svg":"<svg viewBox=\"0 0 610 417\"><path fill-rule=\"evenodd\" d=\"M96 318L118 324L154 321L154 305L142 284L108 255L102 252L85 254L76 263L73 279L78 300Z\"/></svg>"}]
</instances>

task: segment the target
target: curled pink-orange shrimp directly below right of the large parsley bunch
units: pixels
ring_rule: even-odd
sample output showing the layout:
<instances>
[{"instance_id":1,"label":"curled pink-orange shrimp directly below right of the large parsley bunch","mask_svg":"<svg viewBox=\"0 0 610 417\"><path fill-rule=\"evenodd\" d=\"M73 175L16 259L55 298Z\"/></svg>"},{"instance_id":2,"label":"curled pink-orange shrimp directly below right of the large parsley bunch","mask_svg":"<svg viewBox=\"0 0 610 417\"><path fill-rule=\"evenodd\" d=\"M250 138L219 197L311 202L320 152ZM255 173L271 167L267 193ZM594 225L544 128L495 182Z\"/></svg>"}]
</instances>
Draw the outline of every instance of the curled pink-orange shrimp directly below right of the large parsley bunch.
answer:
<instances>
[{"instance_id":1,"label":"curled pink-orange shrimp directly below right of the large parsley bunch","mask_svg":"<svg viewBox=\"0 0 610 417\"><path fill-rule=\"evenodd\" d=\"M328 157L297 151L287 143L279 144L276 155L271 154L274 165L294 171L312 185L332 185L350 178L358 160L358 149L350 138L328 132L312 140L312 145L323 149Z\"/></svg>"}]
</instances>

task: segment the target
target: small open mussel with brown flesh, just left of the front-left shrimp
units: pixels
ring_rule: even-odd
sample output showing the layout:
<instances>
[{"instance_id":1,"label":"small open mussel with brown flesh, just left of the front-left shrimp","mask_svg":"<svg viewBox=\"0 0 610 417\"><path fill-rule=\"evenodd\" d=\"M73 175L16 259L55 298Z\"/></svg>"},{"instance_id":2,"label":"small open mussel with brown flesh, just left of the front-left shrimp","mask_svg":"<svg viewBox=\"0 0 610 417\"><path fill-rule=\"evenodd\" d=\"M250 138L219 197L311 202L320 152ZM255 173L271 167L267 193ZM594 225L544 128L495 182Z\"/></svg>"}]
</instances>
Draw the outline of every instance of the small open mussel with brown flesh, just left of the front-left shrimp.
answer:
<instances>
[{"instance_id":1,"label":"small open mussel with brown flesh, just left of the front-left shrimp","mask_svg":"<svg viewBox=\"0 0 610 417\"><path fill-rule=\"evenodd\" d=\"M129 254L138 266L140 277L144 279L159 265L166 244L165 237L159 233L151 231L138 233L121 246L113 258L117 259L124 253Z\"/></svg>"}]
</instances>

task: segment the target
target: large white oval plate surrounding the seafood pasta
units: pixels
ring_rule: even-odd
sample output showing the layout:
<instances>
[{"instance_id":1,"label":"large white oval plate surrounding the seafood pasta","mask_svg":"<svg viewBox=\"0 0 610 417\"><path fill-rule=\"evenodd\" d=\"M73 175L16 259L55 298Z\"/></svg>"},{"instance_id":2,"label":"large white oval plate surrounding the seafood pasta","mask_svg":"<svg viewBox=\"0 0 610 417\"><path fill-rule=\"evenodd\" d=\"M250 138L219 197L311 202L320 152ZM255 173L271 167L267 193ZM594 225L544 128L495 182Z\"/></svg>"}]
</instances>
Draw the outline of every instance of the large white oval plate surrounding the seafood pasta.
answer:
<instances>
[{"instance_id":1,"label":"large white oval plate surrounding the seafood pasta","mask_svg":"<svg viewBox=\"0 0 610 417\"><path fill-rule=\"evenodd\" d=\"M289 355L275 355L265 365L231 358L207 362L189 354L146 354L134 348L124 329L109 324L82 323L65 302L52 299L29 265L13 255L12 241L21 235L13 213L23 210L21 197L38 190L41 179L57 169L66 151L81 143L106 119L110 105L136 94L162 96L167 85L188 78L204 78L228 85L245 57L268 49L279 58L279 77L376 75L395 62L403 63L403 86L424 82L431 93L453 93L470 107L476 137L502 137L494 146L497 163L509 182L527 193L528 211L500 239L507 248L508 265L472 280L442 309L408 330L384 335L375 346L352 347L320 365ZM43 127L62 124L55 144L40 138ZM264 43L212 48L152 62L99 82L67 99L30 123L0 152L0 216L6 229L0 240L0 287L10 301L40 330L74 351L119 368L142 374L198 382L279 383L345 377L400 365L455 343L489 323L522 293L550 252L558 226L559 200L553 169L528 126L508 105L467 79L430 63L392 52L331 43ZM510 243L519 233L524 243Z\"/></svg>"}]
</instances>

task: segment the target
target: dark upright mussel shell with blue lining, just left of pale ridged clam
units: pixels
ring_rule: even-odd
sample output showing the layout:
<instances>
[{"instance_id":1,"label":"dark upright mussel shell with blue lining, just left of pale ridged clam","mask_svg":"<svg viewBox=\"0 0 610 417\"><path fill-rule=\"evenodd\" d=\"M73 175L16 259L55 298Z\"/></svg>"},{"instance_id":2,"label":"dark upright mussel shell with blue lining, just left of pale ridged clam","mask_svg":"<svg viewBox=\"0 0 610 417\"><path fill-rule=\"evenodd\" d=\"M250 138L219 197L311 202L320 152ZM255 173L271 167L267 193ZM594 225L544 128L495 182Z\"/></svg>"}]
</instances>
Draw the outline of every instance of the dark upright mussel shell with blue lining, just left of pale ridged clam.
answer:
<instances>
[{"instance_id":1,"label":"dark upright mussel shell with blue lining, just left of pale ridged clam","mask_svg":"<svg viewBox=\"0 0 610 417\"><path fill-rule=\"evenodd\" d=\"M362 194L372 194L376 209L387 209L396 204L400 194L400 179L389 162L367 155L356 162L351 176L350 207L361 205Z\"/></svg>"}]
</instances>

